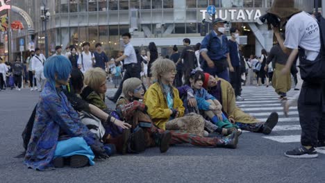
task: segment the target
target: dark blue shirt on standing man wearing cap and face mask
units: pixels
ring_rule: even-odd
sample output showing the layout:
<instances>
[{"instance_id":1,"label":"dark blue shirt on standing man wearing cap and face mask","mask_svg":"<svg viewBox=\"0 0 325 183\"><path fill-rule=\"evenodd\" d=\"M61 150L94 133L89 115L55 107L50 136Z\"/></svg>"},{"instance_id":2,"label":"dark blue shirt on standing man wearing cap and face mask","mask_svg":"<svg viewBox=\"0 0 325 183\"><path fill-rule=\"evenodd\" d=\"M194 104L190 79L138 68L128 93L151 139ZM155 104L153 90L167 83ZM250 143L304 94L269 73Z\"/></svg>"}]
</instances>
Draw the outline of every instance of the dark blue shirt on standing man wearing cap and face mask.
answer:
<instances>
[{"instance_id":1,"label":"dark blue shirt on standing man wearing cap and face mask","mask_svg":"<svg viewBox=\"0 0 325 183\"><path fill-rule=\"evenodd\" d=\"M210 35L213 35L213 38L210 43L209 47L209 41L210 41ZM224 58L227 58L226 54L229 53L228 49L228 39L226 35L222 35L222 44L217 37L217 34L214 30L211 31L210 34L206 35L204 39L201 42L201 50L200 52L206 51L209 58L213 61L221 60Z\"/></svg>"}]
</instances>

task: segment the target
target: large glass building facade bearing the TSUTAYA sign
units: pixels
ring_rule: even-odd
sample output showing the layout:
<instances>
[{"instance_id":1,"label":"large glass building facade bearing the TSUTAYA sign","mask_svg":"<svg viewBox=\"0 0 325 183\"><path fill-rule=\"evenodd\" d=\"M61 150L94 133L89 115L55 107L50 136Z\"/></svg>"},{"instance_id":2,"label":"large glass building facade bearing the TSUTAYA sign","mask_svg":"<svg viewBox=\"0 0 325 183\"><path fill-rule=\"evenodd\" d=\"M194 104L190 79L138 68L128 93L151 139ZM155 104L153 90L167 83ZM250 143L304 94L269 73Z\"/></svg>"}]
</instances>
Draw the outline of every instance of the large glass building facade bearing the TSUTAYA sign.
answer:
<instances>
[{"instance_id":1,"label":"large glass building facade bearing the TSUTAYA sign","mask_svg":"<svg viewBox=\"0 0 325 183\"><path fill-rule=\"evenodd\" d=\"M26 30L13 31L11 52L19 53L19 40L25 40L25 51L29 43L44 50L44 22L40 19L40 6L49 8L51 17L47 22L49 52L56 45L63 48L83 42L101 42L106 52L113 54L122 49L120 36L133 34L133 45L145 47L156 42L163 55L169 54L170 46L181 45L185 37L192 44L201 42L202 20L210 21L206 12L209 5L217 8L216 17L227 19L230 26L240 28L248 37L244 42L247 54L262 48L270 49L273 33L267 25L258 26L256 19L272 5L272 0L31 0L11 1L12 6L26 10L34 21L35 36ZM297 6L306 11L313 9L312 1L298 0ZM24 19L10 13L10 20ZM208 23L204 23L210 28Z\"/></svg>"}]
</instances>

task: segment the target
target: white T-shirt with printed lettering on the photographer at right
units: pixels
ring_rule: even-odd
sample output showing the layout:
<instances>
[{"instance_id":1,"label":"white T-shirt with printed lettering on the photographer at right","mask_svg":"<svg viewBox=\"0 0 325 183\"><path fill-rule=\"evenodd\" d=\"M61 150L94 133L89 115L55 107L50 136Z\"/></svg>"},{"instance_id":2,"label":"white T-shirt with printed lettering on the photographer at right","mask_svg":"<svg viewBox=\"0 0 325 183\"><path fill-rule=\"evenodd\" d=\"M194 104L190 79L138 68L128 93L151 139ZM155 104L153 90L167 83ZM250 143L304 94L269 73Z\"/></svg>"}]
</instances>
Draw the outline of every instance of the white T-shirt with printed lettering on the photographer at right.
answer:
<instances>
[{"instance_id":1,"label":"white T-shirt with printed lettering on the photographer at right","mask_svg":"<svg viewBox=\"0 0 325 183\"><path fill-rule=\"evenodd\" d=\"M306 12L293 15L285 26L284 45L289 49L300 46L305 49L308 60L315 60L321 47L316 19Z\"/></svg>"}]
</instances>

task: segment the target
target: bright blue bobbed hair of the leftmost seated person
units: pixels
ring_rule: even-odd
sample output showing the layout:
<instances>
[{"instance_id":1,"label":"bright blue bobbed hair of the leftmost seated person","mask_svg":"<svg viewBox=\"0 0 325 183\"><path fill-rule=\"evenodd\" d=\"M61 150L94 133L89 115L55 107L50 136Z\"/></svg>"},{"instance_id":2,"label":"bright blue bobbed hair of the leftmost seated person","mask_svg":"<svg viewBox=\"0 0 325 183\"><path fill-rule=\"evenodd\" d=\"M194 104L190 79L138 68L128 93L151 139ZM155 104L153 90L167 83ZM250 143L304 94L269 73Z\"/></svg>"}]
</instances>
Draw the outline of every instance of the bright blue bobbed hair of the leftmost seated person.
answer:
<instances>
[{"instance_id":1,"label":"bright blue bobbed hair of the leftmost seated person","mask_svg":"<svg viewBox=\"0 0 325 183\"><path fill-rule=\"evenodd\" d=\"M67 80L71 69L71 62L67 58L62 55L52 56L44 64L44 76L54 89L56 87L56 75L58 80Z\"/></svg>"}]
</instances>

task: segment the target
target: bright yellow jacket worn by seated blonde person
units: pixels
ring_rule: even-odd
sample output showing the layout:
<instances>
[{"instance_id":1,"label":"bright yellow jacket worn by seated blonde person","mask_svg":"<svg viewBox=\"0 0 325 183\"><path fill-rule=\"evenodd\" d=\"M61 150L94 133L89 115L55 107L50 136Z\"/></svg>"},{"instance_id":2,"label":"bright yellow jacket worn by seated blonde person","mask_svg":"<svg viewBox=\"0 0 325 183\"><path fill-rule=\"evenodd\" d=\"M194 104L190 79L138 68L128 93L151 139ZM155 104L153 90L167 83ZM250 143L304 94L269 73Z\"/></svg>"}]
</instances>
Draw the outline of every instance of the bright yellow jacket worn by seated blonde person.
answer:
<instances>
[{"instance_id":1,"label":"bright yellow jacket worn by seated blonde person","mask_svg":"<svg viewBox=\"0 0 325 183\"><path fill-rule=\"evenodd\" d=\"M183 101L179 98L178 90L174 87L173 94L173 108L178 110L178 117L182 117L184 116L185 108L183 107ZM144 104L148 107L147 112L149 116L151 116L153 123L155 123L158 128L165 130L165 125L170 118L170 110L165 96L163 95L163 91L157 82L151 85L146 94L144 94Z\"/></svg>"}]
</instances>

